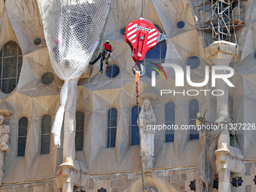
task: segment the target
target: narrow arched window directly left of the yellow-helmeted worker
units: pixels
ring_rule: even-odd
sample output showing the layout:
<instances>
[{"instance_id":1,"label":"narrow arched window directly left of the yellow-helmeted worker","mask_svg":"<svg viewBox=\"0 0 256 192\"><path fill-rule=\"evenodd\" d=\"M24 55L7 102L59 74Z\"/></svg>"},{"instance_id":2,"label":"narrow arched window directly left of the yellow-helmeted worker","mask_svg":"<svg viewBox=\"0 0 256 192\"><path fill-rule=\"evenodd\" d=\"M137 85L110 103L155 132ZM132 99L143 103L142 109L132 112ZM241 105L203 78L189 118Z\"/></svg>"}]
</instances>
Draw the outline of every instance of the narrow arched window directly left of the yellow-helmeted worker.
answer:
<instances>
[{"instance_id":1,"label":"narrow arched window directly left of the yellow-helmeted worker","mask_svg":"<svg viewBox=\"0 0 256 192\"><path fill-rule=\"evenodd\" d=\"M199 131L197 130L197 113L199 112L199 103L196 99L189 102L189 123L194 125L194 129L190 128L190 140L199 139Z\"/></svg>"}]
</instances>

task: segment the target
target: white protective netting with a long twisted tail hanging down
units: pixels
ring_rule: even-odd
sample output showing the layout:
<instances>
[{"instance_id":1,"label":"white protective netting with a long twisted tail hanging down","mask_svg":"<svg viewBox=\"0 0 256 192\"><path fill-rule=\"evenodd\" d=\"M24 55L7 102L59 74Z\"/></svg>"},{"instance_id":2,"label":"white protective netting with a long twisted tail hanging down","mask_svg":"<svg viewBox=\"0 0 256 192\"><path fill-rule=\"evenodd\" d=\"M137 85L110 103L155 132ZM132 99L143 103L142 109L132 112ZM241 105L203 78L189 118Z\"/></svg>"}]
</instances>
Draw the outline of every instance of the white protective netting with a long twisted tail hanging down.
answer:
<instances>
[{"instance_id":1,"label":"white protective netting with a long twisted tail hanging down","mask_svg":"<svg viewBox=\"0 0 256 192\"><path fill-rule=\"evenodd\" d=\"M60 130L69 90L69 80L80 77L99 42L110 0L37 0L44 25L50 62L65 80L60 93L52 133L60 145Z\"/></svg>"}]
</instances>

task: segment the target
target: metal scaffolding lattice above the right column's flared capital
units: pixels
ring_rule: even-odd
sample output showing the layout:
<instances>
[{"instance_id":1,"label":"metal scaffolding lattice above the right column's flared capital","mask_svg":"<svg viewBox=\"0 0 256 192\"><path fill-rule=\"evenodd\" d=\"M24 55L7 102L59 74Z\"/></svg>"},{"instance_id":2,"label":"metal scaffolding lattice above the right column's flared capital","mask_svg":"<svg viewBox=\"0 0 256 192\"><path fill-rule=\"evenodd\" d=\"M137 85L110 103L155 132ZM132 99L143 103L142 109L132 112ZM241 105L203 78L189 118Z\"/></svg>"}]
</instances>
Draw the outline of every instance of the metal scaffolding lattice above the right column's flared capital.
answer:
<instances>
[{"instance_id":1,"label":"metal scaffolding lattice above the right column's flared capital","mask_svg":"<svg viewBox=\"0 0 256 192\"><path fill-rule=\"evenodd\" d=\"M236 30L245 25L241 20L240 2L247 0L206 0L203 6L203 33L212 32L212 42L214 41L231 41ZM205 20L205 6L210 6L211 19ZM206 22L209 26L206 27Z\"/></svg>"}]
</instances>

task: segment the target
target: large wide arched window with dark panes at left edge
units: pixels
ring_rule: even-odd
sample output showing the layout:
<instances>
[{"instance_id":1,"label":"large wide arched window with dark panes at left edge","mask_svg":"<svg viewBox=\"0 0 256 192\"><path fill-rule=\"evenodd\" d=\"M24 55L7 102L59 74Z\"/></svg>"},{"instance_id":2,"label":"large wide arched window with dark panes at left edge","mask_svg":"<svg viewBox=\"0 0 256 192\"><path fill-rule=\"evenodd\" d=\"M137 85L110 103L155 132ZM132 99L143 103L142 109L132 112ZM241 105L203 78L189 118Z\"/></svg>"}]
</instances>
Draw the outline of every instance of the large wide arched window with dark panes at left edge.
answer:
<instances>
[{"instance_id":1,"label":"large wide arched window with dark panes at left edge","mask_svg":"<svg viewBox=\"0 0 256 192\"><path fill-rule=\"evenodd\" d=\"M0 51L0 89L3 93L11 93L18 84L23 56L20 47L10 41Z\"/></svg>"}]
</instances>

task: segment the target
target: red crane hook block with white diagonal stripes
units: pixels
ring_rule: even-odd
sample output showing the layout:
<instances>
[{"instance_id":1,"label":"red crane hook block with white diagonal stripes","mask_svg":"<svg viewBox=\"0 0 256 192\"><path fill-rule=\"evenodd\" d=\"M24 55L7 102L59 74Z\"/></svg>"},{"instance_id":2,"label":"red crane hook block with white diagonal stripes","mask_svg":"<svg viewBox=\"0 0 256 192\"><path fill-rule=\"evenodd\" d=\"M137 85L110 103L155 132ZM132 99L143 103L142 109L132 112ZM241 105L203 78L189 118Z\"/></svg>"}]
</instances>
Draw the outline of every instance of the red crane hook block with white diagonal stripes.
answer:
<instances>
[{"instance_id":1,"label":"red crane hook block with white diagonal stripes","mask_svg":"<svg viewBox=\"0 0 256 192\"><path fill-rule=\"evenodd\" d=\"M124 40L130 45L133 60L142 61L148 50L158 43L159 32L148 20L139 19L130 22L125 29Z\"/></svg>"}]
</instances>

